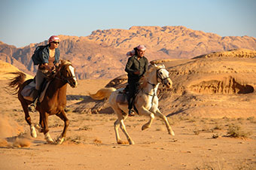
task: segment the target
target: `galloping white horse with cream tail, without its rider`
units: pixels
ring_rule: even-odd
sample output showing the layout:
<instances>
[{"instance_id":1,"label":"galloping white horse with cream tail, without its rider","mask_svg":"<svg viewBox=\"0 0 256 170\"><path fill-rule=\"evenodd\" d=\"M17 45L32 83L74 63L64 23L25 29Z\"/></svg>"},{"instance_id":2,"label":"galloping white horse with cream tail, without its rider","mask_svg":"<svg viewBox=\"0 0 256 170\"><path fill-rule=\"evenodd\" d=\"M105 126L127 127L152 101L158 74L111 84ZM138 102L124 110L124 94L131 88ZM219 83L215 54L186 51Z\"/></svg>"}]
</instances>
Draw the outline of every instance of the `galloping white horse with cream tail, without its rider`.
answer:
<instances>
[{"instance_id":1,"label":"galloping white horse with cream tail, without its rider","mask_svg":"<svg viewBox=\"0 0 256 170\"><path fill-rule=\"evenodd\" d=\"M166 116L164 116L158 108L157 88L160 83L169 89L172 88L172 80L169 78L169 72L166 70L165 66L152 65L152 67L145 73L145 77L140 80L142 87L136 96L134 105L136 106L139 115L150 117L148 123L145 123L145 125L142 126L142 130L148 129L151 126L154 117L157 116L164 121L169 134L175 135ZM128 106L117 102L117 95L120 94L121 90L123 89L116 90L113 87L103 88L95 94L90 94L90 97L96 100L107 99L109 97L108 102L110 103L111 108L113 108L114 112L117 114L117 120L114 122L114 132L116 135L117 144L126 143L120 140L118 133L119 126L126 135L129 144L134 144L133 139L127 133L126 127L123 123L128 117Z\"/></svg>"}]
</instances>

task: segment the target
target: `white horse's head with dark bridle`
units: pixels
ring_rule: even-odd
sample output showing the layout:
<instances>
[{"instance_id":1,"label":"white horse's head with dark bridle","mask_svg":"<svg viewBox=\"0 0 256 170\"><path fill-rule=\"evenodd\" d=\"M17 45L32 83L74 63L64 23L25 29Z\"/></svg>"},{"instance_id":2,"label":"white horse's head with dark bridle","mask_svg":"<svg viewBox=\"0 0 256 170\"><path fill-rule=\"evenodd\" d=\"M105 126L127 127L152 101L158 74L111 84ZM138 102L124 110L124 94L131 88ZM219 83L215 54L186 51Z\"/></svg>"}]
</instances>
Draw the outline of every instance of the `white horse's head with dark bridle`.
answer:
<instances>
[{"instance_id":1,"label":"white horse's head with dark bridle","mask_svg":"<svg viewBox=\"0 0 256 170\"><path fill-rule=\"evenodd\" d=\"M164 65L154 65L157 67L157 82L162 83L167 88L172 89L172 80L169 77L169 71Z\"/></svg>"}]
</instances>

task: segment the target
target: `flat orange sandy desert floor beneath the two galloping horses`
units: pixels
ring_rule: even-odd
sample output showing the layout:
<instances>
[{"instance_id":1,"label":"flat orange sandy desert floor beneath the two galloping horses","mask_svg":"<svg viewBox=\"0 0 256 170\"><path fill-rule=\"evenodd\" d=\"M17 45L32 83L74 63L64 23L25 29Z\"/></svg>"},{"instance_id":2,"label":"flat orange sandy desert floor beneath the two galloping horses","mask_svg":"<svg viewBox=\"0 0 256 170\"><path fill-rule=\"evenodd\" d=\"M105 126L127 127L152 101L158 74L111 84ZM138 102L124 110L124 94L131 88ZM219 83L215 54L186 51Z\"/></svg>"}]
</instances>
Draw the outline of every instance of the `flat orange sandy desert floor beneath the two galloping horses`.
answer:
<instances>
[{"instance_id":1,"label":"flat orange sandy desert floor beneath the two galloping horses","mask_svg":"<svg viewBox=\"0 0 256 170\"><path fill-rule=\"evenodd\" d=\"M95 93L109 80L80 80L68 88L68 105ZM136 144L116 144L114 114L68 112L70 126L62 145L47 144L44 135L29 137L20 102L5 92L0 80L0 169L255 169L256 118L168 117L175 136L161 120L141 130L148 117L129 117L125 124ZM38 113L32 113L38 123ZM63 123L49 117L50 135L56 138ZM227 137L231 127L239 136ZM120 132L121 138L125 136ZM20 141L19 141L20 140Z\"/></svg>"}]
</instances>

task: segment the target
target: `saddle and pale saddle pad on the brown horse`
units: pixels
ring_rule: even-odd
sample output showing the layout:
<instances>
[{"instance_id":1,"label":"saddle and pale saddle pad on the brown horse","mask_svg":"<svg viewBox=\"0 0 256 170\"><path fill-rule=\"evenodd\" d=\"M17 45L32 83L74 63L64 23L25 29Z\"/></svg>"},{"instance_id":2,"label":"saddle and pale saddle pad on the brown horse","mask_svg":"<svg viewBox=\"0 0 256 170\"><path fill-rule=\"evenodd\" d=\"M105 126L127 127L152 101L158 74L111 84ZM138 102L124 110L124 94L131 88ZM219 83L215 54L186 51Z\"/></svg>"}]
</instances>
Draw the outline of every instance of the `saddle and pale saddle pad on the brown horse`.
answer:
<instances>
[{"instance_id":1,"label":"saddle and pale saddle pad on the brown horse","mask_svg":"<svg viewBox=\"0 0 256 170\"><path fill-rule=\"evenodd\" d=\"M39 102L43 101L49 83L50 81L47 80L44 80L44 82L42 83ZM23 96L24 99L29 100L31 102L34 101L34 99L37 97L35 96L35 79L33 79L29 84L27 84L20 94Z\"/></svg>"}]
</instances>

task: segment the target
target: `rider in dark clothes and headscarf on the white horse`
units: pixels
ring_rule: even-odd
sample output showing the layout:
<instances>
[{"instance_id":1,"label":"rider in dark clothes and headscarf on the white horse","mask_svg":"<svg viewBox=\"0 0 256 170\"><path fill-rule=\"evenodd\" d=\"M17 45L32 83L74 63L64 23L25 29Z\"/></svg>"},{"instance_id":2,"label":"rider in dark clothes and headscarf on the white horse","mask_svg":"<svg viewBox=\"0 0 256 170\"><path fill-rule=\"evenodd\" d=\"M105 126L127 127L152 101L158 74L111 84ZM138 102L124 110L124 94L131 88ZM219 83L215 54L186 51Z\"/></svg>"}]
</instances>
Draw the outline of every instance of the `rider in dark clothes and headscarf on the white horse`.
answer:
<instances>
[{"instance_id":1,"label":"rider in dark clothes and headscarf on the white horse","mask_svg":"<svg viewBox=\"0 0 256 170\"><path fill-rule=\"evenodd\" d=\"M134 116L133 100L139 89L139 79L148 71L148 59L144 56L145 50L144 45L139 45L133 51L126 54L130 56L125 68L125 71L128 73L126 90L129 90L127 101L130 116Z\"/></svg>"}]
</instances>

